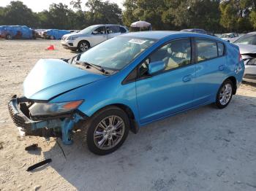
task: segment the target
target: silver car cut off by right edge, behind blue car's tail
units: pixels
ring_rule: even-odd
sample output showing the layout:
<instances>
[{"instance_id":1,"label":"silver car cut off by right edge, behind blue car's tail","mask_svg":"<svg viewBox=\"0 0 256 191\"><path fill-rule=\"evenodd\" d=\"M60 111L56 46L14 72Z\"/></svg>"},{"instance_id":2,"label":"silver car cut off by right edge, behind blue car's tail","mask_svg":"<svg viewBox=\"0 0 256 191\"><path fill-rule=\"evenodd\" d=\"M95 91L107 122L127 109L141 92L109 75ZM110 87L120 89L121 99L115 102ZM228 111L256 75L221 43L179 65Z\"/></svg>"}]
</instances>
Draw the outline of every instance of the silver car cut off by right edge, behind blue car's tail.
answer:
<instances>
[{"instance_id":1,"label":"silver car cut off by right edge, behind blue car's tail","mask_svg":"<svg viewBox=\"0 0 256 191\"><path fill-rule=\"evenodd\" d=\"M234 42L244 60L244 81L256 83L256 32L248 33Z\"/></svg>"}]
</instances>

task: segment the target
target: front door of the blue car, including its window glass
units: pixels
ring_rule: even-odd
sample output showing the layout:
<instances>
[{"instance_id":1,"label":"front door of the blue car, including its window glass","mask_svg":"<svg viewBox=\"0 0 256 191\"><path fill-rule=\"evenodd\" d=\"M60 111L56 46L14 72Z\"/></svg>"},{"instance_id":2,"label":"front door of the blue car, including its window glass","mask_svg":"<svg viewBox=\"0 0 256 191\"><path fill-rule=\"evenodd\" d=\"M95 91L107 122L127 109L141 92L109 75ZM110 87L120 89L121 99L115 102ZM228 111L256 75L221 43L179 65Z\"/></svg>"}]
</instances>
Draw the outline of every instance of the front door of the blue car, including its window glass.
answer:
<instances>
[{"instance_id":1,"label":"front door of the blue car, including its window glass","mask_svg":"<svg viewBox=\"0 0 256 191\"><path fill-rule=\"evenodd\" d=\"M193 105L195 65L190 39L174 40L151 54L138 68L136 82L140 123L145 124ZM149 76L148 63L164 61L165 71Z\"/></svg>"}]
</instances>

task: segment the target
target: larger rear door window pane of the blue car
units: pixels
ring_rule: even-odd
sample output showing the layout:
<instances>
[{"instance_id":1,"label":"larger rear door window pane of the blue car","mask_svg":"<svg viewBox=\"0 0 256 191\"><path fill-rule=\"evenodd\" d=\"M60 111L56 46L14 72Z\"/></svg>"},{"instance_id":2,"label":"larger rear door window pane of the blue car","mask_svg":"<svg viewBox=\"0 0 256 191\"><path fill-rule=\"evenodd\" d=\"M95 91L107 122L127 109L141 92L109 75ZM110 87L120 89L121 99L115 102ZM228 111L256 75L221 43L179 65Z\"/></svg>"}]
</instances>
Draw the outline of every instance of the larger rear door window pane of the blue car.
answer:
<instances>
[{"instance_id":1,"label":"larger rear door window pane of the blue car","mask_svg":"<svg viewBox=\"0 0 256 191\"><path fill-rule=\"evenodd\" d=\"M218 56L217 43L208 39L195 39L197 61L206 61Z\"/></svg>"}]
</instances>

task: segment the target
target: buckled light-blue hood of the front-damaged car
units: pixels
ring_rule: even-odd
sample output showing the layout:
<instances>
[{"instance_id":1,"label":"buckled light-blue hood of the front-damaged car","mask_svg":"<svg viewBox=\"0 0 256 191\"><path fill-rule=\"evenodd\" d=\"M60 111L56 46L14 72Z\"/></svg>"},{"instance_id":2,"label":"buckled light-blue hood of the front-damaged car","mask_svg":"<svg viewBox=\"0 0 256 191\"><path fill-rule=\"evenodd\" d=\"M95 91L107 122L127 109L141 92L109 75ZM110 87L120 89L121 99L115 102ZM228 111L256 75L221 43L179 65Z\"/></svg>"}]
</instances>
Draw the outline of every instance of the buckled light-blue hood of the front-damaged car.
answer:
<instances>
[{"instance_id":1,"label":"buckled light-blue hood of the front-damaged car","mask_svg":"<svg viewBox=\"0 0 256 191\"><path fill-rule=\"evenodd\" d=\"M49 100L60 93L105 77L79 69L59 59L39 60L23 82L24 96L36 100Z\"/></svg>"}]
</instances>

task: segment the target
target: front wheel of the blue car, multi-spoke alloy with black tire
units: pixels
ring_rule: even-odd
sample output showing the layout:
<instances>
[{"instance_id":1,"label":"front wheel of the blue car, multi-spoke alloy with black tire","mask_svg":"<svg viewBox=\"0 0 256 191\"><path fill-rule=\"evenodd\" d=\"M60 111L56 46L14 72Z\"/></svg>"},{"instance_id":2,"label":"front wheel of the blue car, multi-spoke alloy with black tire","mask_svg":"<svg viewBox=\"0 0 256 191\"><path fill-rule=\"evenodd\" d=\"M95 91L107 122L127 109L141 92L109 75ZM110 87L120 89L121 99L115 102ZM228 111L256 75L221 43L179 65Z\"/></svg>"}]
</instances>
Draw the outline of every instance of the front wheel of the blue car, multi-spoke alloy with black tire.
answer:
<instances>
[{"instance_id":1,"label":"front wheel of the blue car, multi-spoke alloy with black tire","mask_svg":"<svg viewBox=\"0 0 256 191\"><path fill-rule=\"evenodd\" d=\"M86 141L89 150L94 154L108 155L121 147L128 133L127 114L116 106L110 106L91 118Z\"/></svg>"}]
</instances>

